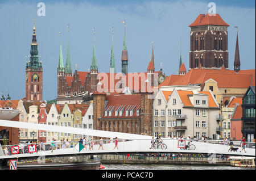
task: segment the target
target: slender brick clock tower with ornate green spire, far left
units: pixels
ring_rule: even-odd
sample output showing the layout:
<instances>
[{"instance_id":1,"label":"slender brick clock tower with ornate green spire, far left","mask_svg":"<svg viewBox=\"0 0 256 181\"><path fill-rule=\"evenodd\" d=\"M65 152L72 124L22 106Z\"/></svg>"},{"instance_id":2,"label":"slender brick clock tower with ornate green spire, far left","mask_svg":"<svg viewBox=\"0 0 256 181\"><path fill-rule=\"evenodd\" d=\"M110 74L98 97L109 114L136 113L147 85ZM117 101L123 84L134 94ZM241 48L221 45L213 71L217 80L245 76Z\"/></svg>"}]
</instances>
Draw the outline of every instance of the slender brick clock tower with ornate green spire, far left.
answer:
<instances>
[{"instance_id":1,"label":"slender brick clock tower with ornate green spire, far left","mask_svg":"<svg viewBox=\"0 0 256 181\"><path fill-rule=\"evenodd\" d=\"M34 19L30 56L26 64L26 100L28 102L42 101L43 95L43 68L42 61L39 62L35 30Z\"/></svg>"}]
</instances>

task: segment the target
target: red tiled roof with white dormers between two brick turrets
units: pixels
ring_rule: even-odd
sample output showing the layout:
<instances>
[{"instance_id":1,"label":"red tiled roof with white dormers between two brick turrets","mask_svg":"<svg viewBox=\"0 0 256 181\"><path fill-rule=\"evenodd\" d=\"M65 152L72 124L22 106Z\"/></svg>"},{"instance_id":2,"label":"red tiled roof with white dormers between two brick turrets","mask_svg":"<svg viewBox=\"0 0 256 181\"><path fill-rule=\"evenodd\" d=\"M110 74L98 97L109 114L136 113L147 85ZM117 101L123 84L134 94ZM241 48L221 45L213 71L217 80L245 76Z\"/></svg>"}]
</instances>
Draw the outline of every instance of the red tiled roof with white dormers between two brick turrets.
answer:
<instances>
[{"instance_id":1,"label":"red tiled roof with white dormers between two brick turrets","mask_svg":"<svg viewBox=\"0 0 256 181\"><path fill-rule=\"evenodd\" d=\"M112 115L107 116L104 115L102 118L130 118L130 117L139 117L141 114L137 116L137 110L141 108L141 94L119 94L119 95L107 95L106 100L108 100L108 104L106 105L105 111L112 111ZM122 110L122 115L119 116L119 111ZM126 116L126 111L129 110L129 116ZM118 115L115 116L115 111L118 111ZM130 111L133 111L133 115L130 116Z\"/></svg>"}]
</instances>

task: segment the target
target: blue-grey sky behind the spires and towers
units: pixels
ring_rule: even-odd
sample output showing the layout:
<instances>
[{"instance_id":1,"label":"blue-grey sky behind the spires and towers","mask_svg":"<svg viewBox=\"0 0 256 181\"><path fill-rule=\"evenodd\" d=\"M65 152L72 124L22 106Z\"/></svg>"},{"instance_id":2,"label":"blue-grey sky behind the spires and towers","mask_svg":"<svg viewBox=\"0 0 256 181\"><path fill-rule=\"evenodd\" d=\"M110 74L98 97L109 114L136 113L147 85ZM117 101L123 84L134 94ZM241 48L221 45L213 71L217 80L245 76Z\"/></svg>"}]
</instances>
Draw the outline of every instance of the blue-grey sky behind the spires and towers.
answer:
<instances>
[{"instance_id":1,"label":"blue-grey sky behind the spires and towers","mask_svg":"<svg viewBox=\"0 0 256 181\"><path fill-rule=\"evenodd\" d=\"M38 16L38 3L46 5L46 15ZM64 64L70 31L71 66L73 72L88 71L92 62L93 27L99 72L109 72L112 32L114 30L115 68L121 72L126 21L129 72L147 71L154 41L155 70L160 63L166 75L179 70L181 56L189 68L190 28L199 14L208 12L209 2L216 3L216 12L230 25L228 28L229 69L233 69L236 28L240 48L241 69L255 69L255 1L0 1L0 96L22 99L25 96L26 58L30 54L33 19L39 55L43 64L43 99L57 97L57 65L60 35Z\"/></svg>"}]
</instances>

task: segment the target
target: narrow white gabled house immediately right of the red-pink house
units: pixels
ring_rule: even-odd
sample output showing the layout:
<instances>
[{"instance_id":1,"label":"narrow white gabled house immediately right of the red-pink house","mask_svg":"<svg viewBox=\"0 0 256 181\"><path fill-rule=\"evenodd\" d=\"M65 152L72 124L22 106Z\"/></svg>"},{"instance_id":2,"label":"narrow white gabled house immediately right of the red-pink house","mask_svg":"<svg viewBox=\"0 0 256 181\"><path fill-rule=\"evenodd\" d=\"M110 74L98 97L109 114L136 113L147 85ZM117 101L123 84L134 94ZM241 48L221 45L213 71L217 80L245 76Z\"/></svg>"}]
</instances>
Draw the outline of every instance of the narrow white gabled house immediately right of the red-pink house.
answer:
<instances>
[{"instance_id":1,"label":"narrow white gabled house immediately right of the red-pink house","mask_svg":"<svg viewBox=\"0 0 256 181\"><path fill-rule=\"evenodd\" d=\"M59 125L59 112L57 111L56 106L59 105L51 104L51 108L48 111L48 116L46 118L46 124L48 125ZM60 108L60 107L59 107ZM52 138L59 140L59 132L49 132L46 133L46 142L51 142Z\"/></svg>"}]
</instances>

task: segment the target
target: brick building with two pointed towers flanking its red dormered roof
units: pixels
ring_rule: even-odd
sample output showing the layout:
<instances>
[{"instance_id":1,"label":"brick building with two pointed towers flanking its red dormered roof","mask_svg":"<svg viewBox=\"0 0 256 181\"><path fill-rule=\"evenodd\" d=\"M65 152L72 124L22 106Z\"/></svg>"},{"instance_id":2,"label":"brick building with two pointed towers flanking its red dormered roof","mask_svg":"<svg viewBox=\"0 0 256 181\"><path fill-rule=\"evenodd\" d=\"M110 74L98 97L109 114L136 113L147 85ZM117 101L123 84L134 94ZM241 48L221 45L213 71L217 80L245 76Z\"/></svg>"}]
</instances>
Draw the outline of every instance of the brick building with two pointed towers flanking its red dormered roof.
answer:
<instances>
[{"instance_id":1,"label":"brick building with two pointed towers flanking its red dormered roof","mask_svg":"<svg viewBox=\"0 0 256 181\"><path fill-rule=\"evenodd\" d=\"M152 134L153 91L148 81L139 94L106 95L101 82L93 92L93 129Z\"/></svg>"}]
</instances>

